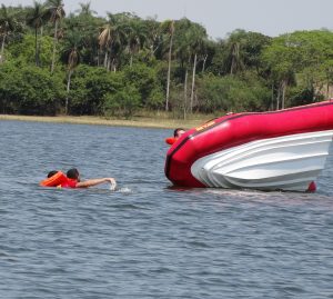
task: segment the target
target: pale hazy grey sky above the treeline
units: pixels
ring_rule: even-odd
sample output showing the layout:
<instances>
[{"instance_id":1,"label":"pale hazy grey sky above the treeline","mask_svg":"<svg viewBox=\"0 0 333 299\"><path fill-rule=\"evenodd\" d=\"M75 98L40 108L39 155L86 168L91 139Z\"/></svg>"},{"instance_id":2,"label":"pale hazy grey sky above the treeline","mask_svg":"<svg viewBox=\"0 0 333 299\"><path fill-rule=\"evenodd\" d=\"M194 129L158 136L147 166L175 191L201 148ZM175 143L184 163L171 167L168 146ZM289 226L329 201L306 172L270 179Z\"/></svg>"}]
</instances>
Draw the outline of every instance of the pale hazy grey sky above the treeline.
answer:
<instances>
[{"instance_id":1,"label":"pale hazy grey sky above the treeline","mask_svg":"<svg viewBox=\"0 0 333 299\"><path fill-rule=\"evenodd\" d=\"M44 2L44 1L41 1ZM64 0L74 12L89 0ZM33 0L1 0L4 6L32 6ZM91 0L98 16L133 12L158 21L181 19L201 23L212 39L224 39L235 29L270 37L296 30L333 30L333 0Z\"/></svg>"}]
</instances>

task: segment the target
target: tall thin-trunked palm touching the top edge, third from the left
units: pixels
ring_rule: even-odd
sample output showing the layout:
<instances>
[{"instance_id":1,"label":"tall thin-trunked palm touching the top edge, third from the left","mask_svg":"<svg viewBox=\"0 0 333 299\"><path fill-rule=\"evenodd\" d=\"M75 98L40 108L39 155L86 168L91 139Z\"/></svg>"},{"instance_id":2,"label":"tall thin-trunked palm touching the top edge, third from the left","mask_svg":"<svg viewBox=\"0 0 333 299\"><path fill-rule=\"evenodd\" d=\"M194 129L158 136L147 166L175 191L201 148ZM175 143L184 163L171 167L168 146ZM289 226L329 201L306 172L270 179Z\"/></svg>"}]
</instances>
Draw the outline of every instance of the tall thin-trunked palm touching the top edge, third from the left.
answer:
<instances>
[{"instance_id":1,"label":"tall thin-trunked palm touching the top edge, third from the left","mask_svg":"<svg viewBox=\"0 0 333 299\"><path fill-rule=\"evenodd\" d=\"M61 19L65 16L65 12L63 10L62 0L48 0L47 6L50 12L50 21L54 24L53 54L52 54L52 66L51 66L51 73L53 73L54 63L56 63L57 42L58 42L58 27Z\"/></svg>"}]
</instances>

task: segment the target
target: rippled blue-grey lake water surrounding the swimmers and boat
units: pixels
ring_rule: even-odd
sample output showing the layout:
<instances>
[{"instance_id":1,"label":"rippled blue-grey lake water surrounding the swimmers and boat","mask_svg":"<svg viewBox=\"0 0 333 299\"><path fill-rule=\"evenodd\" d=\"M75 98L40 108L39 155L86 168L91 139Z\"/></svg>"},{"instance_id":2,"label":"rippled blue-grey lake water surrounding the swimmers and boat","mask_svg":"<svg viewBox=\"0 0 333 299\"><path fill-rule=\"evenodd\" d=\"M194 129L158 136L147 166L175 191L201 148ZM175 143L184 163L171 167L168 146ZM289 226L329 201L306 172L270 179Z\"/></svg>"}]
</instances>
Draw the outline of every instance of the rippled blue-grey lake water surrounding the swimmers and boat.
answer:
<instances>
[{"instance_id":1,"label":"rippled blue-grey lake water surrounding the swimmers and boat","mask_svg":"<svg viewBox=\"0 0 333 299\"><path fill-rule=\"evenodd\" d=\"M316 193L170 188L171 130L0 121L0 298L333 298L333 158ZM114 177L38 186L48 171Z\"/></svg>"}]
</instances>

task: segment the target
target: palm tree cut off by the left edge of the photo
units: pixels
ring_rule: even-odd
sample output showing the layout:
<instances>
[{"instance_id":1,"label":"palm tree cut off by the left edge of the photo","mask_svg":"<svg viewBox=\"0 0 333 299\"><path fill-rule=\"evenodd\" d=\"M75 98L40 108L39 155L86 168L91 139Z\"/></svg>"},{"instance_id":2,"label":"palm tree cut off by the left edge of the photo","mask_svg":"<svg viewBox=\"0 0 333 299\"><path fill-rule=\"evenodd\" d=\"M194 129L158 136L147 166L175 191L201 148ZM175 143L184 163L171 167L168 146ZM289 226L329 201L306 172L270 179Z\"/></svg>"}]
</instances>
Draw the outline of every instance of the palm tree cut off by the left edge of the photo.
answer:
<instances>
[{"instance_id":1,"label":"palm tree cut off by the left edge of the photo","mask_svg":"<svg viewBox=\"0 0 333 299\"><path fill-rule=\"evenodd\" d=\"M8 36L16 29L18 21L13 13L11 13L4 4L1 4L0 9L0 37L1 41L1 52L0 52L0 63L4 60L4 44Z\"/></svg>"}]
</instances>

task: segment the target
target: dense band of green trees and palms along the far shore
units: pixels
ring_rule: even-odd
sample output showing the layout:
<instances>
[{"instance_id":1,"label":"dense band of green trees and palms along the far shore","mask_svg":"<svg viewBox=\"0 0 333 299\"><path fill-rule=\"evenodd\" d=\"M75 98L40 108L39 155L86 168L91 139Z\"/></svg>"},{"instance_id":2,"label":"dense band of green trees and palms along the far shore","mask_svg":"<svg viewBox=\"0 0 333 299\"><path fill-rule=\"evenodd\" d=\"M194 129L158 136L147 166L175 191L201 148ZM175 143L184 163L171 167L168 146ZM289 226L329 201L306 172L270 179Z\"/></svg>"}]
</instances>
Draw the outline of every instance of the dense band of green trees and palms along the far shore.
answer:
<instances>
[{"instance_id":1,"label":"dense band of green trees and palms along the far shore","mask_svg":"<svg viewBox=\"0 0 333 299\"><path fill-rule=\"evenodd\" d=\"M211 40L188 19L97 17L62 0L0 9L0 112L129 118L273 110L331 97L333 33Z\"/></svg>"}]
</instances>

